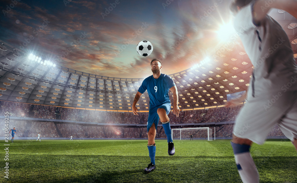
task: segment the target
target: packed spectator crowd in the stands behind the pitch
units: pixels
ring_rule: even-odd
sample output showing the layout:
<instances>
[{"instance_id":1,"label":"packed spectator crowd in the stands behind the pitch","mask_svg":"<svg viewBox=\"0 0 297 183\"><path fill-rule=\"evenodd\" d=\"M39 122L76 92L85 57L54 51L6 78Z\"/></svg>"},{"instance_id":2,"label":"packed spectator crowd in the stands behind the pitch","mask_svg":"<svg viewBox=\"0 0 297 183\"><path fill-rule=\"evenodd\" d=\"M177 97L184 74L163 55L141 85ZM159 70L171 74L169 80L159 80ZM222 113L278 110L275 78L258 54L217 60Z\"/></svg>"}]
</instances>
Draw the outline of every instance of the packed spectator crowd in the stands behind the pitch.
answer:
<instances>
[{"instance_id":1,"label":"packed spectator crowd in the stands behind the pitch","mask_svg":"<svg viewBox=\"0 0 297 183\"><path fill-rule=\"evenodd\" d=\"M170 112L169 118L171 124L234 121L242 106L181 111L179 117L176 117L173 112ZM41 133L41 137L70 137L72 135L74 138L147 138L146 126L129 127L119 126L118 124L146 124L148 112L139 112L139 115L133 115L132 112L81 110L1 101L0 112L3 115L4 111L8 111L10 116L16 117L70 121L40 122L37 120L10 120L9 129L16 128L16 137L36 137L38 133ZM76 123L76 121L94 122L97 124L83 124ZM216 127L216 137L232 137L233 124L211 124L208 126L213 129L213 134L214 127ZM180 128L180 126L172 126L171 128ZM185 127L183 126L183 128ZM5 130L2 128L0 135L4 136L4 132ZM189 137L189 133L194 138L207 137L205 130L184 130L182 131L182 137ZM180 136L180 134L175 131L174 137L178 138L177 136ZM268 136L284 136L284 134L276 125ZM156 138L166 138L161 125L157 129Z\"/></svg>"}]
</instances>

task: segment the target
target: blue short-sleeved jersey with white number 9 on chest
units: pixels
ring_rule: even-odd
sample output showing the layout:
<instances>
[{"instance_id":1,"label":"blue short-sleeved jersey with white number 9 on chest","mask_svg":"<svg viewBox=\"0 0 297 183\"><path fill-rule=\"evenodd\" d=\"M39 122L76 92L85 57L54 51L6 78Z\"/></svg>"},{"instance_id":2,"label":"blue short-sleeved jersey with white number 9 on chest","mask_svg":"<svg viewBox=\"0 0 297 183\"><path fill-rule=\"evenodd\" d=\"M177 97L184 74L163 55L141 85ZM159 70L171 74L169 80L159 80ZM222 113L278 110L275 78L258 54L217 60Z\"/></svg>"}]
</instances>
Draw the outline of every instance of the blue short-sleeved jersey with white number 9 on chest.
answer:
<instances>
[{"instance_id":1,"label":"blue short-sleeved jersey with white number 9 on chest","mask_svg":"<svg viewBox=\"0 0 297 183\"><path fill-rule=\"evenodd\" d=\"M170 103L168 91L173 86L175 86L175 83L170 76L161 74L158 79L155 79L153 75L151 75L143 80L138 91L140 93L144 93L146 90L148 91L150 99L149 105L151 108Z\"/></svg>"}]
</instances>

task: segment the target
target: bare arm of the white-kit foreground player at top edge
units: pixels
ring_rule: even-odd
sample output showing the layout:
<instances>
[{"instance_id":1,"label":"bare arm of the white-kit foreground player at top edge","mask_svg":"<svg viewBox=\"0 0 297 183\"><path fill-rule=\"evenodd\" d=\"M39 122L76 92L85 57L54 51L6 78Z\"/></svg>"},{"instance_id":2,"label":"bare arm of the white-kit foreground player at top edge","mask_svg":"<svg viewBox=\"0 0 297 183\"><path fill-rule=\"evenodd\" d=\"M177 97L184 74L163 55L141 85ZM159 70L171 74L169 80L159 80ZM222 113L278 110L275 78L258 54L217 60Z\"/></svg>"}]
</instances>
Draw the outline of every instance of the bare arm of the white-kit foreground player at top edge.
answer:
<instances>
[{"instance_id":1,"label":"bare arm of the white-kit foreground player at top edge","mask_svg":"<svg viewBox=\"0 0 297 183\"><path fill-rule=\"evenodd\" d=\"M274 0L269 7L265 0L258 0L254 6L254 21L259 24L271 8L285 10L297 19L297 0Z\"/></svg>"}]
</instances>

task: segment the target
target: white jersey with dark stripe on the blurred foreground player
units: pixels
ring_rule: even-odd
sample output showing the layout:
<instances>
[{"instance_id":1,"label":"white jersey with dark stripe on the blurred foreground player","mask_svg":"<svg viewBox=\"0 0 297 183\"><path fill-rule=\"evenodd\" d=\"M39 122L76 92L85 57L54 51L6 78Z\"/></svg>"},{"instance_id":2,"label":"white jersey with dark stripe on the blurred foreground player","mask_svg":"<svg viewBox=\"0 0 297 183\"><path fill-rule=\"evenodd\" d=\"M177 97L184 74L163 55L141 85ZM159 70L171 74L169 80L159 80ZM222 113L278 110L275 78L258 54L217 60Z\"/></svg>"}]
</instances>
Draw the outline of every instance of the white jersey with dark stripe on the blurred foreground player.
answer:
<instances>
[{"instance_id":1,"label":"white jersey with dark stripe on the blurred foreground player","mask_svg":"<svg viewBox=\"0 0 297 183\"><path fill-rule=\"evenodd\" d=\"M234 20L234 28L255 67L248 97L297 90L297 66L286 32L268 15L255 25L252 7L249 4L242 8Z\"/></svg>"}]
</instances>

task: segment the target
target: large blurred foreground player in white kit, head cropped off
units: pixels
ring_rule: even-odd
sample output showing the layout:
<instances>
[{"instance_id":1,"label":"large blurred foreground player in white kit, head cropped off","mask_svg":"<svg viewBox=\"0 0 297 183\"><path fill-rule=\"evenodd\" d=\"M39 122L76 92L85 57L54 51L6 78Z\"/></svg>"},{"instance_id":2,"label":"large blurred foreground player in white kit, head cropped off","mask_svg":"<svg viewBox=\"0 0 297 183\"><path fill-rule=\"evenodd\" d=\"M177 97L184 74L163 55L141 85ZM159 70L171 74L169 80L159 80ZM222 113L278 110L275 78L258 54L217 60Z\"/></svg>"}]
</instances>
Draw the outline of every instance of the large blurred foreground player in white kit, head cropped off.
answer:
<instances>
[{"instance_id":1,"label":"large blurred foreground player in white kit, head cropped off","mask_svg":"<svg viewBox=\"0 0 297 183\"><path fill-rule=\"evenodd\" d=\"M275 124L297 150L297 66L290 40L267 12L285 10L297 18L297 0L233 0L234 28L254 65L247 99L233 129L233 147L238 173L244 183L259 182L249 152L252 142L264 143ZM243 98L229 101L232 106Z\"/></svg>"}]
</instances>

